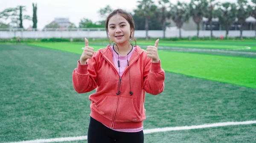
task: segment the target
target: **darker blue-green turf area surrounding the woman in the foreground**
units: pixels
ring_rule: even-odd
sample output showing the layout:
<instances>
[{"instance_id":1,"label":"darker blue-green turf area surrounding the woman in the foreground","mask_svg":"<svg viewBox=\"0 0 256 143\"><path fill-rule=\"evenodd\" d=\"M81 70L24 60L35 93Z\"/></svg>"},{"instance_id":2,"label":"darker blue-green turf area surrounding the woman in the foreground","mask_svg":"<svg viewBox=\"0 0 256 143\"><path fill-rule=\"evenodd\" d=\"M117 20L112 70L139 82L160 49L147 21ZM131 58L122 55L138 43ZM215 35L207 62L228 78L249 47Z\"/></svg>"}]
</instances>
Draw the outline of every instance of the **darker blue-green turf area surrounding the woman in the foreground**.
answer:
<instances>
[{"instance_id":1,"label":"darker blue-green turf area surrounding the woman in the foreground","mask_svg":"<svg viewBox=\"0 0 256 143\"><path fill-rule=\"evenodd\" d=\"M75 92L72 73L79 58L80 54L49 48L0 46L0 143L87 135L88 96L95 90ZM175 67L174 63L169 63L170 67ZM256 121L255 93L254 88L166 71L163 93L145 96L143 126L155 129ZM253 143L255 132L255 124L159 132L146 134L145 143Z\"/></svg>"}]
</instances>

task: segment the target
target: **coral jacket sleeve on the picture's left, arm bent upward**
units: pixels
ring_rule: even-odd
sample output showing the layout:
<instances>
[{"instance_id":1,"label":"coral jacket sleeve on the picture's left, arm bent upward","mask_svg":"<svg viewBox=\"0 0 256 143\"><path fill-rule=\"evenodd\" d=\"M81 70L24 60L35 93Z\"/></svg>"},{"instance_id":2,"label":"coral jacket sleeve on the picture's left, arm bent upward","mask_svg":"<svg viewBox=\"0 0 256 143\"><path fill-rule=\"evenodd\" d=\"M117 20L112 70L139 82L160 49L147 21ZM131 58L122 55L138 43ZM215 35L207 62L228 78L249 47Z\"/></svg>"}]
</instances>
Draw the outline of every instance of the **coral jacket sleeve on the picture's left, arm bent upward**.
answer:
<instances>
[{"instance_id":1,"label":"coral jacket sleeve on the picture's left, arm bent upward","mask_svg":"<svg viewBox=\"0 0 256 143\"><path fill-rule=\"evenodd\" d=\"M94 90L97 87L97 74L96 66L99 56L99 51L94 52L90 59L87 59L87 64L77 63L77 68L73 71L72 80L73 87L77 93L87 93Z\"/></svg>"}]
</instances>

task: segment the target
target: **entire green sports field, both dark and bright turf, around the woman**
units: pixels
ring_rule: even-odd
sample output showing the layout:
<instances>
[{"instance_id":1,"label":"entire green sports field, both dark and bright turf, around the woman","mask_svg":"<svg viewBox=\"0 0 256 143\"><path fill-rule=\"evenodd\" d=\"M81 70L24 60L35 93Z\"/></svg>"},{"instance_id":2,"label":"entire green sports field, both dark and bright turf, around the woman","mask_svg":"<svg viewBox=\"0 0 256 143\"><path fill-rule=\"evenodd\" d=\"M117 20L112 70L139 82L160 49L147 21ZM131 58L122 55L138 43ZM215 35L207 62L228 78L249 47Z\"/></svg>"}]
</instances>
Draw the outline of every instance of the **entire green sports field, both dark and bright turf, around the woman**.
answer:
<instances>
[{"instance_id":1,"label":"entire green sports field, both dark and bright turf, around the woman","mask_svg":"<svg viewBox=\"0 0 256 143\"><path fill-rule=\"evenodd\" d=\"M246 53L219 54L212 42L163 43L159 46L167 49L159 50L159 55L166 71L165 90L157 96L146 94L145 130L256 121L253 48L244 51L250 54L244 57ZM143 41L137 44L146 45ZM168 50L173 45L213 52ZM218 49L256 46L253 42L215 45ZM97 42L90 46L95 50L105 47ZM88 95L95 91L78 94L72 85L82 47L83 43L0 45L0 143L87 135ZM255 143L255 135L256 124L219 126L145 134L145 143Z\"/></svg>"}]
</instances>

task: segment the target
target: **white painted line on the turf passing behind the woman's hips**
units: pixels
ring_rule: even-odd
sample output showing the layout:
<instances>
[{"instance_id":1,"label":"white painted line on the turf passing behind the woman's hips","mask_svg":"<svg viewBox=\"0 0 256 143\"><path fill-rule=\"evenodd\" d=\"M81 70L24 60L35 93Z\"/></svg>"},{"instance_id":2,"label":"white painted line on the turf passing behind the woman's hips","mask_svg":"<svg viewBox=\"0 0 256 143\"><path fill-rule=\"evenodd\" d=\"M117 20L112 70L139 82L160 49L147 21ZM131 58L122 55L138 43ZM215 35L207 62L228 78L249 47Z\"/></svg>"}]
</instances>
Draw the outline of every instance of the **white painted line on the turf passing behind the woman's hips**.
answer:
<instances>
[{"instance_id":1,"label":"white painted line on the turf passing behind the woman's hips","mask_svg":"<svg viewBox=\"0 0 256 143\"><path fill-rule=\"evenodd\" d=\"M248 125L248 124L254 124L254 123L256 123L256 121L224 122L224 123L212 123L212 124L197 125L197 126L177 126L177 127L166 127L166 128L156 128L156 129L145 129L145 130L143 130L143 132L144 132L144 134L151 134L154 132L202 129L202 128L211 128L211 127L218 127L218 126ZM25 141L20 141L20 142L9 142L9 143L52 143L52 142L64 142L64 141L76 141L76 140L87 140L87 136L25 140Z\"/></svg>"}]
</instances>

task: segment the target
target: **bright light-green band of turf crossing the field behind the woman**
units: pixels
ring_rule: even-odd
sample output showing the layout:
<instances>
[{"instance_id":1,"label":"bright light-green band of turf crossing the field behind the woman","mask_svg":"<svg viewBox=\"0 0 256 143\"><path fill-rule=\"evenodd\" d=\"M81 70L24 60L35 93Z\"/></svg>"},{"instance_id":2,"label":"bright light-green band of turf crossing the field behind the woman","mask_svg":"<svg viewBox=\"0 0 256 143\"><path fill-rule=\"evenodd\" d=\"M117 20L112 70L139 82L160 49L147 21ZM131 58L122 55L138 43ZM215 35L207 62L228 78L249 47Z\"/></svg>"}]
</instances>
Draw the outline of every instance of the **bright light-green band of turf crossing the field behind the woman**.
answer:
<instances>
[{"instance_id":1,"label":"bright light-green band of turf crossing the field behind the woman","mask_svg":"<svg viewBox=\"0 0 256 143\"><path fill-rule=\"evenodd\" d=\"M140 45L140 43L138 44ZM153 44L151 43L151 45ZM70 43L34 43L30 45L78 54L82 53L81 47L84 46L84 44ZM161 45L162 43L159 44L159 46ZM104 45L90 46L95 50L104 48ZM244 46L242 45L241 47ZM199 48L201 47L199 46ZM162 59L162 66L166 71L256 88L256 53L255 58L177 53L168 50L159 51L159 55Z\"/></svg>"}]
</instances>

